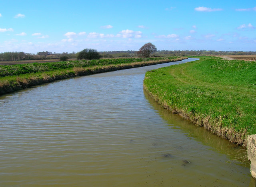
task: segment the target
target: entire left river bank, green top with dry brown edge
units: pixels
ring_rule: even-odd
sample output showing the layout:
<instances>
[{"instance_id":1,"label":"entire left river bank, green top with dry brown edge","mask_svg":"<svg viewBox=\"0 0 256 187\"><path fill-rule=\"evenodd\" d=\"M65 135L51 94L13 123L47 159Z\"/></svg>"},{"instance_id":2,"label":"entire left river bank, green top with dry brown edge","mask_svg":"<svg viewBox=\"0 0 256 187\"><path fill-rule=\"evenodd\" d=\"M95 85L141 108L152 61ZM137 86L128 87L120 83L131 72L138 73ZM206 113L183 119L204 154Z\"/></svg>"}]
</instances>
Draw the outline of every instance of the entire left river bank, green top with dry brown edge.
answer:
<instances>
[{"instance_id":1,"label":"entire left river bank, green top with dry brown edge","mask_svg":"<svg viewBox=\"0 0 256 187\"><path fill-rule=\"evenodd\" d=\"M0 66L0 95L54 80L175 62L182 59L186 57L102 59Z\"/></svg>"}]
</instances>

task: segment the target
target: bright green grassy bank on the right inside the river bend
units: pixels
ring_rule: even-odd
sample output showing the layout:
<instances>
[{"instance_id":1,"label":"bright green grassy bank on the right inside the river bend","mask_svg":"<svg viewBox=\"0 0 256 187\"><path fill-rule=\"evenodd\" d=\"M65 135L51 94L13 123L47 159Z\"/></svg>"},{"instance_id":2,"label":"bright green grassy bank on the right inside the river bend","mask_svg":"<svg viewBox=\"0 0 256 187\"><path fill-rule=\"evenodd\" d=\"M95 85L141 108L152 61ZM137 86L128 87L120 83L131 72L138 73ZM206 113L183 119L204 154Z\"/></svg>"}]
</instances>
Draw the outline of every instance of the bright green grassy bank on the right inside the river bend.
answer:
<instances>
[{"instance_id":1,"label":"bright green grassy bank on the right inside the river bend","mask_svg":"<svg viewBox=\"0 0 256 187\"><path fill-rule=\"evenodd\" d=\"M246 145L256 134L256 62L200 57L146 73L144 88L173 113Z\"/></svg>"}]
</instances>

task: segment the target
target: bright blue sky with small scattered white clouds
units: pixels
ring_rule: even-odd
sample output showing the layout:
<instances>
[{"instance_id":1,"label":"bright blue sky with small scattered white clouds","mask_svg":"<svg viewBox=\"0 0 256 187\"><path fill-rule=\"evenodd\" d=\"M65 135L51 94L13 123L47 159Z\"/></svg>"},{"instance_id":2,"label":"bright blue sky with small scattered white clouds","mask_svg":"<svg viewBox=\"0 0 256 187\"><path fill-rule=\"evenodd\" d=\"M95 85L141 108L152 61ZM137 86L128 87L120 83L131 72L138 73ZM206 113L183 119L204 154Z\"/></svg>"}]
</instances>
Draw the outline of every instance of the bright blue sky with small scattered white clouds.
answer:
<instances>
[{"instance_id":1,"label":"bright blue sky with small scattered white clouds","mask_svg":"<svg viewBox=\"0 0 256 187\"><path fill-rule=\"evenodd\" d=\"M256 0L0 0L0 52L256 51Z\"/></svg>"}]
</instances>

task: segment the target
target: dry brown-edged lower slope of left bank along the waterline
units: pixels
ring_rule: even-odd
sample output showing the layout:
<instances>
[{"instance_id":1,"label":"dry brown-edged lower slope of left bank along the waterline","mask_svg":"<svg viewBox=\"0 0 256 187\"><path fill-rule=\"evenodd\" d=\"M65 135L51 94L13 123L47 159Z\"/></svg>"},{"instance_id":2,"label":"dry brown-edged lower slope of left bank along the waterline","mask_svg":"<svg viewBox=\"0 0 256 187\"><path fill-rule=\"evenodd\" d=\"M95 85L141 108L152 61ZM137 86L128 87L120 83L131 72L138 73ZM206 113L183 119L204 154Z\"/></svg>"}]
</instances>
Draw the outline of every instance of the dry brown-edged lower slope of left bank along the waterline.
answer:
<instances>
[{"instance_id":1,"label":"dry brown-edged lower slope of left bank along the waterline","mask_svg":"<svg viewBox=\"0 0 256 187\"><path fill-rule=\"evenodd\" d=\"M172 60L159 60L159 61L147 61L147 62L134 62L130 64L115 64L108 66L94 66L91 68L75 67L73 70L59 70L55 72L44 72L41 74L25 74L24 76L12 76L8 80L0 81L0 95L15 92L39 84L53 82L55 80L61 80L66 78L72 78L77 76L86 76L90 74L97 74L103 72L110 72L116 70L124 70L129 68L138 68L142 66L150 66L154 64L162 64L168 62L176 62L187 59L187 57L180 57Z\"/></svg>"}]
</instances>

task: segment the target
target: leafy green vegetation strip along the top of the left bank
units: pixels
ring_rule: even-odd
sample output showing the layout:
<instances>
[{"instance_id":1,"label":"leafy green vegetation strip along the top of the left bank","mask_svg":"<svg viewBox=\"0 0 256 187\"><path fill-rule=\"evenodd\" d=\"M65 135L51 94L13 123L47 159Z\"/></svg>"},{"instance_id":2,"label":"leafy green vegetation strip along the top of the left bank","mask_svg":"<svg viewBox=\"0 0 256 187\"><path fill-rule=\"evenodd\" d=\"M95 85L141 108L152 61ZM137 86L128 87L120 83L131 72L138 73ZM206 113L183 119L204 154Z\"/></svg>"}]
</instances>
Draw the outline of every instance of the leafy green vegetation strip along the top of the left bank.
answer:
<instances>
[{"instance_id":1,"label":"leafy green vegetation strip along the top of the left bank","mask_svg":"<svg viewBox=\"0 0 256 187\"><path fill-rule=\"evenodd\" d=\"M0 66L0 77L18 76L22 74L30 74L37 72L48 72L54 70L71 69L74 67L92 67L92 66L106 66L110 64L125 64L132 62L152 61L175 59L176 57L169 58L116 58L116 59L100 59L100 60L76 60L66 62L49 62L49 63L33 63L33 64L17 64Z\"/></svg>"}]
</instances>

